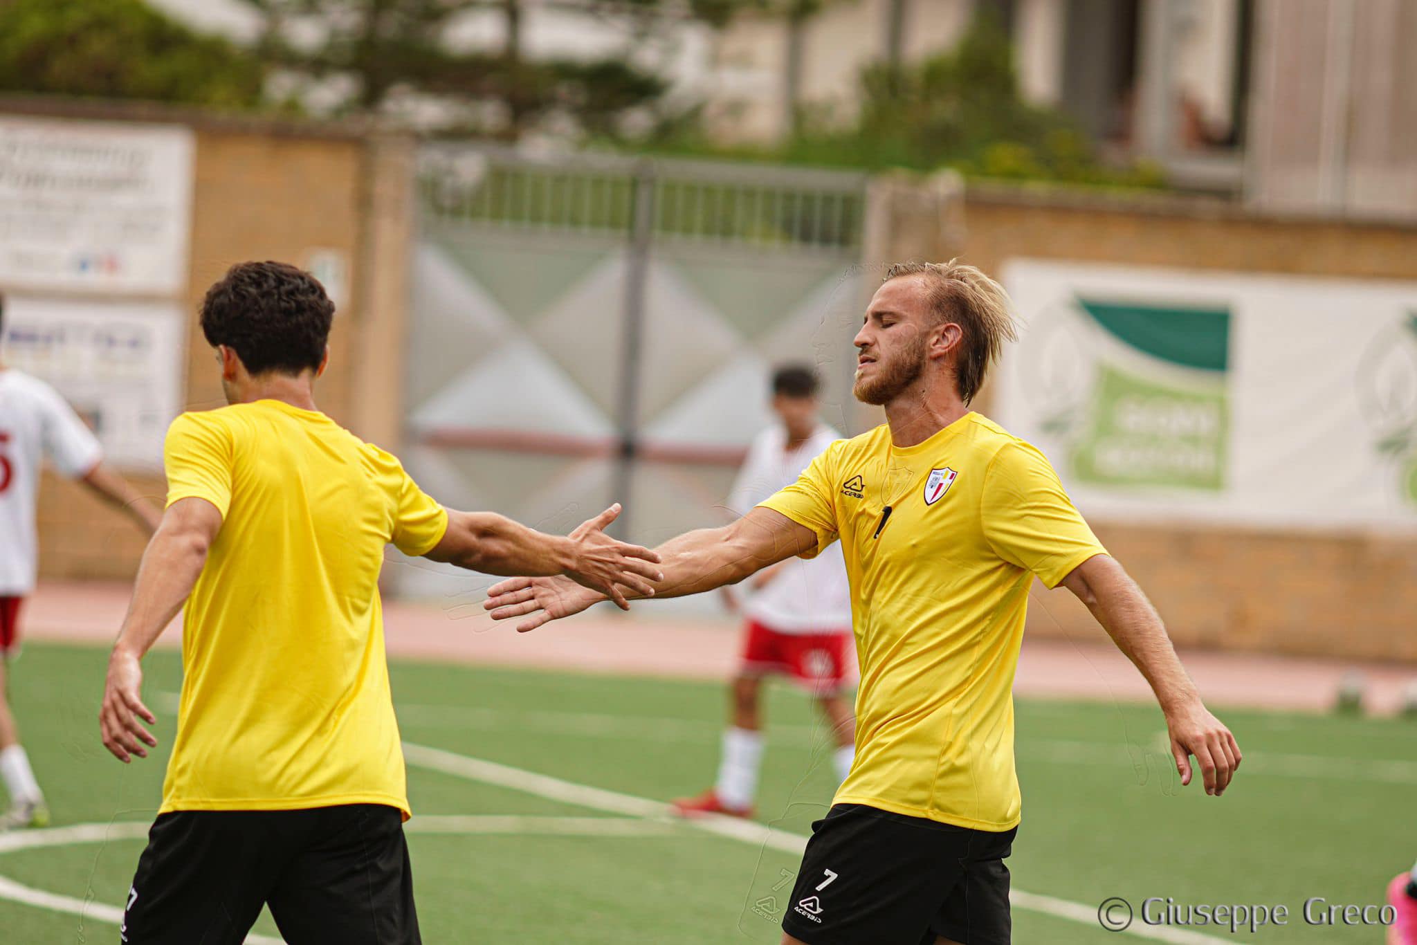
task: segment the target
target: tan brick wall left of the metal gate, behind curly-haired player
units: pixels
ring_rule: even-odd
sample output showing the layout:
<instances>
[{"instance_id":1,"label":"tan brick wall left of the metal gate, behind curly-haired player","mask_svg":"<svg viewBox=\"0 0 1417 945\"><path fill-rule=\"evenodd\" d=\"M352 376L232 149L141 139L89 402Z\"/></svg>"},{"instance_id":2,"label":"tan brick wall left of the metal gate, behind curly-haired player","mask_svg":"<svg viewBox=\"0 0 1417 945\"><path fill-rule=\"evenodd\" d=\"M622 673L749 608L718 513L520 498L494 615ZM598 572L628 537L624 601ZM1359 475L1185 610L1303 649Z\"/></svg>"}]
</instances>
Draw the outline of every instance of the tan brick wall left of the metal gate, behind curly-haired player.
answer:
<instances>
[{"instance_id":1,"label":"tan brick wall left of the metal gate, behind curly-haired player","mask_svg":"<svg viewBox=\"0 0 1417 945\"><path fill-rule=\"evenodd\" d=\"M312 251L334 251L346 259L349 300L336 312L330 367L316 400L361 436L394 443L401 425L412 142L360 126L225 120L126 105L0 99L0 112L191 126L197 147L184 293L190 313L186 405L205 409L225 402L197 324L207 286L235 262L306 265ZM132 480L162 500L162 477ZM135 574L143 536L84 487L45 475L38 517L43 577L128 579Z\"/></svg>"}]
</instances>

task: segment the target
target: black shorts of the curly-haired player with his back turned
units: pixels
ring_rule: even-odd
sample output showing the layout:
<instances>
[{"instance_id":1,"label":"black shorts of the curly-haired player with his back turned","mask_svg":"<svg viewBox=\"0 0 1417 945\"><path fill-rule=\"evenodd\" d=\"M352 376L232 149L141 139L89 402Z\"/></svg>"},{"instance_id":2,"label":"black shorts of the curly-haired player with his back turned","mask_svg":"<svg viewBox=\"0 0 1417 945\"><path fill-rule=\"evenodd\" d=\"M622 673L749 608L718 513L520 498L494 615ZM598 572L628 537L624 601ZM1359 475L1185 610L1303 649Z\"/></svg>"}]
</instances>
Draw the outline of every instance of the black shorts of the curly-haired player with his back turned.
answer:
<instances>
[{"instance_id":1,"label":"black shorts of the curly-haired player with his back turned","mask_svg":"<svg viewBox=\"0 0 1417 945\"><path fill-rule=\"evenodd\" d=\"M376 803L159 815L122 939L241 945L266 904L289 945L419 945L402 815Z\"/></svg>"}]
</instances>

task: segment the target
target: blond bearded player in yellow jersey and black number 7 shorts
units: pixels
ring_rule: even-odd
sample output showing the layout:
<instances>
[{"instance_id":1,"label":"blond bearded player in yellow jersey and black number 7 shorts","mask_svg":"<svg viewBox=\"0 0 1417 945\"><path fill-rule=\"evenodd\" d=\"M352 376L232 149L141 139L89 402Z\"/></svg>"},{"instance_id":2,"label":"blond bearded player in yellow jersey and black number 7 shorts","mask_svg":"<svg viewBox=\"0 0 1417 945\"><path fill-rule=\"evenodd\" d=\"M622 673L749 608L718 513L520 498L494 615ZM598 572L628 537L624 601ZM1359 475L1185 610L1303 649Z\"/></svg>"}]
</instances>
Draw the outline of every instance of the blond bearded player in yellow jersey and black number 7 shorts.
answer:
<instances>
[{"instance_id":1,"label":"blond bearded player in yellow jersey and black number 7 shorts","mask_svg":"<svg viewBox=\"0 0 1417 945\"><path fill-rule=\"evenodd\" d=\"M1013 337L1003 289L958 262L891 266L856 336L856 397L886 424L832 443L723 528L657 548L656 596L741 581L842 543L860 662L856 761L798 871L792 945L1000 945L1019 825L1013 673L1029 585L1066 585L1145 674L1182 783L1240 764L1146 596L1098 544L1043 453L969 409ZM604 599L561 578L492 588L529 630Z\"/></svg>"}]
</instances>

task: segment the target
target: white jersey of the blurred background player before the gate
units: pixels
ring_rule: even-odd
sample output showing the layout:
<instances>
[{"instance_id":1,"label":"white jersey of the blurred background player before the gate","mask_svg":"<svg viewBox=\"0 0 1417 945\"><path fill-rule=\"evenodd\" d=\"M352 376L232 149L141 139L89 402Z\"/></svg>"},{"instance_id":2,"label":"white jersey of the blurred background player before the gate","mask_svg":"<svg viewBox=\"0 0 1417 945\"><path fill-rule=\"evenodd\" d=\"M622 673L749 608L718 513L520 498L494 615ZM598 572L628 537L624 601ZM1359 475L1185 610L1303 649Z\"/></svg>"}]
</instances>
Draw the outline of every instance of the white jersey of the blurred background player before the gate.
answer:
<instances>
[{"instance_id":1,"label":"white jersey of the blurred background player before the gate","mask_svg":"<svg viewBox=\"0 0 1417 945\"><path fill-rule=\"evenodd\" d=\"M755 504L796 482L802 470L842 435L826 424L794 451L786 449L786 431L775 424L758 434L728 496L728 507L747 514ZM751 578L738 585L751 584ZM828 548L815 558L788 558L782 570L752 594L744 615L779 633L828 633L852 629L852 591L840 548Z\"/></svg>"}]
</instances>

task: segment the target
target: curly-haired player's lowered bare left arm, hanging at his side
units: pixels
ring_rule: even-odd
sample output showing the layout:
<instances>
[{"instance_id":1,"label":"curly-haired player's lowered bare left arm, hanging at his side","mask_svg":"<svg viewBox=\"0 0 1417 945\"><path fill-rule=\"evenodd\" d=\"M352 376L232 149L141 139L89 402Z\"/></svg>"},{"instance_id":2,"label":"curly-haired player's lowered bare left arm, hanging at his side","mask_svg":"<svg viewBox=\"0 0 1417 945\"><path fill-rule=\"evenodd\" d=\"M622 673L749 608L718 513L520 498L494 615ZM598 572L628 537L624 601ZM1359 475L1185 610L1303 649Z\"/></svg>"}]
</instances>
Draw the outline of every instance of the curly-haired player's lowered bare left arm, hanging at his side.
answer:
<instances>
[{"instance_id":1,"label":"curly-haired player's lowered bare left arm, hanging at his side","mask_svg":"<svg viewBox=\"0 0 1417 945\"><path fill-rule=\"evenodd\" d=\"M205 499L179 499L163 513L157 534L143 553L133 599L108 659L103 706L98 715L103 747L123 764L132 755L146 758L143 745L157 744L139 721L157 721L142 700L140 662L191 594L220 530L221 511L214 504Z\"/></svg>"}]
</instances>

